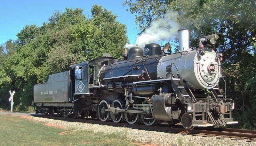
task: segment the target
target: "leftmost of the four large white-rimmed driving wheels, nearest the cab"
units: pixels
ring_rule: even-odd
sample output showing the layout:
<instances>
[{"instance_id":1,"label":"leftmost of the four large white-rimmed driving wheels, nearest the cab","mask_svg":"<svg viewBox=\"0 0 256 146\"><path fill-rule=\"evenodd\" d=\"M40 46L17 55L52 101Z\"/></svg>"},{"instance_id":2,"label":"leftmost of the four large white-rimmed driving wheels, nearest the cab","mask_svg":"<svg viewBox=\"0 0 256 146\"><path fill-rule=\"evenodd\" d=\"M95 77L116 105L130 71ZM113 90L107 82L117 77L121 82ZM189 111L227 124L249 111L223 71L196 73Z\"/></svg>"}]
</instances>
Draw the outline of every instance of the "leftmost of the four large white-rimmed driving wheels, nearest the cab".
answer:
<instances>
[{"instance_id":1,"label":"leftmost of the four large white-rimmed driving wheels, nearest the cab","mask_svg":"<svg viewBox=\"0 0 256 146\"><path fill-rule=\"evenodd\" d=\"M105 109L108 109L108 102L105 100L100 101L100 104L98 106L98 116L103 122L107 121L109 116L109 112L105 111Z\"/></svg>"}]
</instances>

